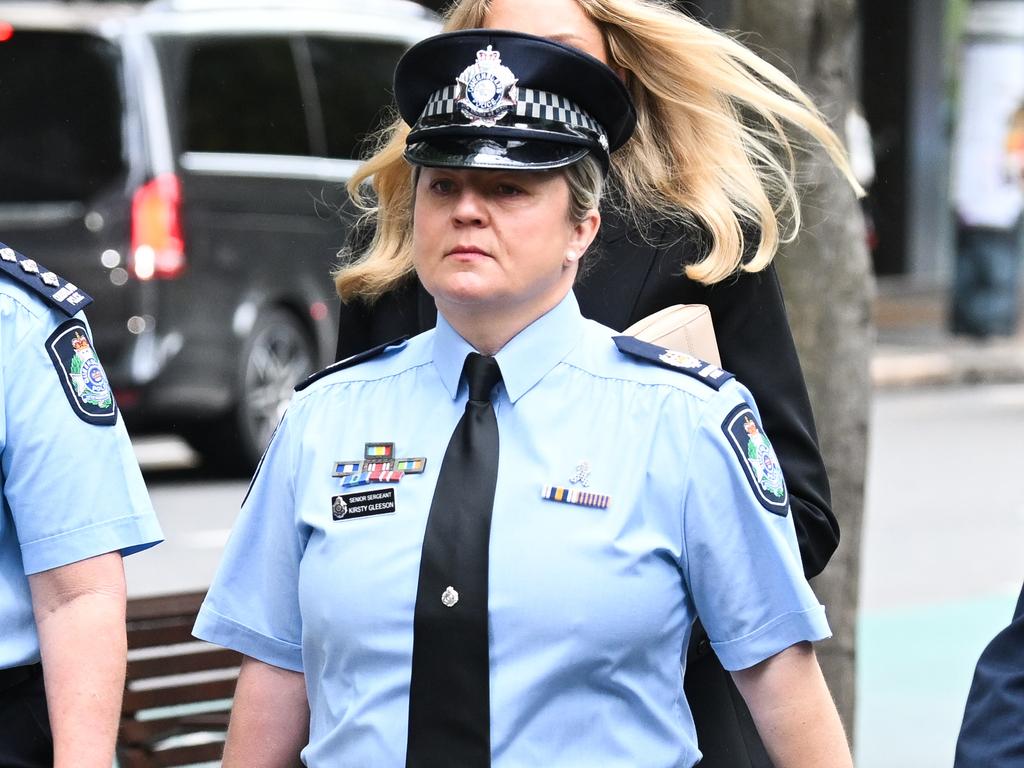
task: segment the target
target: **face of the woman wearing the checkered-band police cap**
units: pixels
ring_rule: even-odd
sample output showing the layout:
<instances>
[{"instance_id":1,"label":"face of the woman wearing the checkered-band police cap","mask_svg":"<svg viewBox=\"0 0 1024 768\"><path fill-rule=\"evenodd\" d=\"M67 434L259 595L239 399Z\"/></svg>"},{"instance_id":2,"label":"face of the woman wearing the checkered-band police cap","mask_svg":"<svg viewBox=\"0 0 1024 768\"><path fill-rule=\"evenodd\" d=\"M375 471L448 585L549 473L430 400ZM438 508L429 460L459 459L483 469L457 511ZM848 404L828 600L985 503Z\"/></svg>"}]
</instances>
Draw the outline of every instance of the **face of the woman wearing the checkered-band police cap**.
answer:
<instances>
[{"instance_id":1,"label":"face of the woman wearing the checkered-band police cap","mask_svg":"<svg viewBox=\"0 0 1024 768\"><path fill-rule=\"evenodd\" d=\"M600 222L593 211L572 224L568 209L559 172L424 168L413 260L438 310L525 327L555 306Z\"/></svg>"}]
</instances>

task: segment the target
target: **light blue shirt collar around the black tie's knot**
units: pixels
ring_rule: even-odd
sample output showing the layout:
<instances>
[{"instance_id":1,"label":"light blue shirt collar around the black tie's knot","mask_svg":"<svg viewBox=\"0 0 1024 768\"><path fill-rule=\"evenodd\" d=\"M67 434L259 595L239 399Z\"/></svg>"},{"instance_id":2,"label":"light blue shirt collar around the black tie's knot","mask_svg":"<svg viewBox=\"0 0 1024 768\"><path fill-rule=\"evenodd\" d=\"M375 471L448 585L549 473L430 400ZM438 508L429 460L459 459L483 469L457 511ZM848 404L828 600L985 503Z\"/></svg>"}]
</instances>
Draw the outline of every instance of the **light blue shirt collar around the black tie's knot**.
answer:
<instances>
[{"instance_id":1,"label":"light blue shirt collar around the black tie's knot","mask_svg":"<svg viewBox=\"0 0 1024 768\"><path fill-rule=\"evenodd\" d=\"M515 402L532 389L577 345L583 333L583 315L575 295L569 291L555 307L516 334L495 355L502 369L502 382ZM473 347L440 312L434 332L434 366L445 389L455 399L466 355Z\"/></svg>"}]
</instances>

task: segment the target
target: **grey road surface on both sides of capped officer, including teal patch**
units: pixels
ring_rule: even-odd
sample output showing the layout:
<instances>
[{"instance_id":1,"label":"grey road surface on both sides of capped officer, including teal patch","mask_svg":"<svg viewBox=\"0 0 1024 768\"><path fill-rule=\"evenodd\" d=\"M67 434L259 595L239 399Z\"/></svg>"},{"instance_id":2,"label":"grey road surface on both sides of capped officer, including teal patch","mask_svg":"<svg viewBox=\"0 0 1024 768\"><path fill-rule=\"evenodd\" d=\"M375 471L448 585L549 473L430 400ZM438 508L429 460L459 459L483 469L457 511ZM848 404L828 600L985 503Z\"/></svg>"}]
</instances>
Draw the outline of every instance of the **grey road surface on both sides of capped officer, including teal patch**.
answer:
<instances>
[{"instance_id":1,"label":"grey road surface on both sides of capped officer, including teal patch","mask_svg":"<svg viewBox=\"0 0 1024 768\"><path fill-rule=\"evenodd\" d=\"M948 768L974 663L1024 580L1024 386L880 393L859 632L857 765ZM133 595L202 589L247 482L174 440L138 451L167 542L128 558Z\"/></svg>"}]
</instances>

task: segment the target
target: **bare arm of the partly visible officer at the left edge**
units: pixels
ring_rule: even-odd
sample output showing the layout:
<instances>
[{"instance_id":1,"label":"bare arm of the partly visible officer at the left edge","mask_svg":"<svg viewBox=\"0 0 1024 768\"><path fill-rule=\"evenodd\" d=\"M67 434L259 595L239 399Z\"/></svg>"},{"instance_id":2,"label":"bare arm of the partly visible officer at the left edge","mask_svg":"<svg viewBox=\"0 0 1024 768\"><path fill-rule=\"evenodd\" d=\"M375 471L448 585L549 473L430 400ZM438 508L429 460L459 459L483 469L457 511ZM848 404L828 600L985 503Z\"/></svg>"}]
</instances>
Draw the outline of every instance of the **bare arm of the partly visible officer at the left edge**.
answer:
<instances>
[{"instance_id":1,"label":"bare arm of the partly visible officer at the left edge","mask_svg":"<svg viewBox=\"0 0 1024 768\"><path fill-rule=\"evenodd\" d=\"M117 553L30 577L54 768L110 768L125 679L125 581Z\"/></svg>"}]
</instances>

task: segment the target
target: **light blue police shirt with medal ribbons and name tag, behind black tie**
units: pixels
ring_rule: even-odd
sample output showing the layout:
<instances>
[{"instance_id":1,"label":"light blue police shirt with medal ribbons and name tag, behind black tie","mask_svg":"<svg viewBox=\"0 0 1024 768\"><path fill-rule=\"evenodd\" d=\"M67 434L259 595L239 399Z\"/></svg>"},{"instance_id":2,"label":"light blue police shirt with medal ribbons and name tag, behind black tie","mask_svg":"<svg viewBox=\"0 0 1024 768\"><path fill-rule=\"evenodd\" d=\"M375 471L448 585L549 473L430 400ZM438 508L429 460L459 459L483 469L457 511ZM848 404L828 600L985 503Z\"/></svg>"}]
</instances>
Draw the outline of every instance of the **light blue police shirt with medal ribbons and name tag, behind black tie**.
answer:
<instances>
[{"instance_id":1,"label":"light blue police shirt with medal ribbons and name tag, behind black tie","mask_svg":"<svg viewBox=\"0 0 1024 768\"><path fill-rule=\"evenodd\" d=\"M723 430L750 394L628 356L611 337L570 293L497 354L495 768L691 766L681 665L695 616L730 670L828 636L792 518L759 502ZM298 392L200 611L197 636L305 673L306 765L404 766L420 551L471 350L438 317ZM368 442L425 457L426 471L340 489L335 465ZM584 489L571 483L584 462L586 492L607 508L542 498ZM334 497L387 487L393 512L334 519Z\"/></svg>"}]
</instances>

